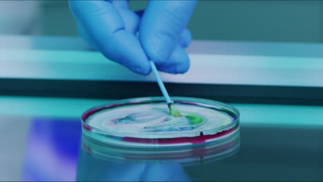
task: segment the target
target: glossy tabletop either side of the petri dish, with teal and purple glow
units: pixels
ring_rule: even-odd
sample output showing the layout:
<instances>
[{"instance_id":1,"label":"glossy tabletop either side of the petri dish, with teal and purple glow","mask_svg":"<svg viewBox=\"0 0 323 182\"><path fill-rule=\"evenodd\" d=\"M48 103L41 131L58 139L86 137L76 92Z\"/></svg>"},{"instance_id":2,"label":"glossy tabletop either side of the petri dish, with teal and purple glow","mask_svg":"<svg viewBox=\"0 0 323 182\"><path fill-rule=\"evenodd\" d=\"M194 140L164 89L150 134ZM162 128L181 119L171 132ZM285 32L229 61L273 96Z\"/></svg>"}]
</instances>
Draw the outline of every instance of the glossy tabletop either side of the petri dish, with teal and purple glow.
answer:
<instances>
[{"instance_id":1,"label":"glossy tabletop either side of the petri dish, with teal and purple glow","mask_svg":"<svg viewBox=\"0 0 323 182\"><path fill-rule=\"evenodd\" d=\"M84 165L79 118L108 101L0 97L0 180L75 181ZM239 152L200 181L323 180L323 107L232 105L242 114Z\"/></svg>"}]
</instances>

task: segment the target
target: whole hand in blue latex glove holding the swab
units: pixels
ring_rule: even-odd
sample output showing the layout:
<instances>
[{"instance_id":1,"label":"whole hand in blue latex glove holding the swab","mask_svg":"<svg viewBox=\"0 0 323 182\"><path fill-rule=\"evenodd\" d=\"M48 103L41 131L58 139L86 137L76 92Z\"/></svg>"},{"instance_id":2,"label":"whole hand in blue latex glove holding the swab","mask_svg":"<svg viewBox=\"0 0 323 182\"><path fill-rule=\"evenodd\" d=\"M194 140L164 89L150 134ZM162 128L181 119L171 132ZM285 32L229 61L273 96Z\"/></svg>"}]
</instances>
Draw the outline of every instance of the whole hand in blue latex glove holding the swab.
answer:
<instances>
[{"instance_id":1,"label":"whole hand in blue latex glove holding the swab","mask_svg":"<svg viewBox=\"0 0 323 182\"><path fill-rule=\"evenodd\" d=\"M184 48L192 39L186 25L195 4L195 0L149 1L142 17L123 0L70 0L70 10L81 37L108 59L139 74L150 73L148 60L152 60L158 70L177 74L190 65Z\"/></svg>"}]
</instances>

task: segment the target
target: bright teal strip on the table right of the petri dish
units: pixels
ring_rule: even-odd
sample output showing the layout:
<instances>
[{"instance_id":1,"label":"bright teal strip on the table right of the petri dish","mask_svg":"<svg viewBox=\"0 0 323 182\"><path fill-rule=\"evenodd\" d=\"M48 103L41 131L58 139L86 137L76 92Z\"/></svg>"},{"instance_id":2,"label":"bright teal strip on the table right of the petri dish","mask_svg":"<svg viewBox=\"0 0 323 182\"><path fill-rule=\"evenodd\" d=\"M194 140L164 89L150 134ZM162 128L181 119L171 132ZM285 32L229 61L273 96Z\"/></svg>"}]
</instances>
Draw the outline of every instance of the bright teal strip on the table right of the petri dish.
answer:
<instances>
[{"instance_id":1,"label":"bright teal strip on the table right of the petri dish","mask_svg":"<svg viewBox=\"0 0 323 182\"><path fill-rule=\"evenodd\" d=\"M323 106L233 104L242 125L323 128Z\"/></svg>"}]
</instances>

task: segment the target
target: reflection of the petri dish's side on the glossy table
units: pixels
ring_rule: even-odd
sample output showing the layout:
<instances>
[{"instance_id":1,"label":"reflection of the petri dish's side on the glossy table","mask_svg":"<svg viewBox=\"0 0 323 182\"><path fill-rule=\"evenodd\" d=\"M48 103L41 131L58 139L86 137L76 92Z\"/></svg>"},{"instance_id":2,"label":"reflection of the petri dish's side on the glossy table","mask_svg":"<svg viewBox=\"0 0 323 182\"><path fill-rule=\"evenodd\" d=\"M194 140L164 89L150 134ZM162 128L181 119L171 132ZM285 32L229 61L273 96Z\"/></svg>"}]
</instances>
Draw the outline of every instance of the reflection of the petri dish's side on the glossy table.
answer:
<instances>
[{"instance_id":1,"label":"reflection of the petri dish's side on the glossy table","mask_svg":"<svg viewBox=\"0 0 323 182\"><path fill-rule=\"evenodd\" d=\"M120 148L114 145L107 146L104 143L93 141L88 136L83 136L81 143L83 152L104 161L117 163L181 163L186 166L226 159L237 154L240 149L239 132L231 135L225 143L219 143L221 145L214 145L214 143L202 146L192 145L175 150L174 148L137 148L133 151L129 148ZM205 148L205 150L194 152L197 148Z\"/></svg>"}]
</instances>

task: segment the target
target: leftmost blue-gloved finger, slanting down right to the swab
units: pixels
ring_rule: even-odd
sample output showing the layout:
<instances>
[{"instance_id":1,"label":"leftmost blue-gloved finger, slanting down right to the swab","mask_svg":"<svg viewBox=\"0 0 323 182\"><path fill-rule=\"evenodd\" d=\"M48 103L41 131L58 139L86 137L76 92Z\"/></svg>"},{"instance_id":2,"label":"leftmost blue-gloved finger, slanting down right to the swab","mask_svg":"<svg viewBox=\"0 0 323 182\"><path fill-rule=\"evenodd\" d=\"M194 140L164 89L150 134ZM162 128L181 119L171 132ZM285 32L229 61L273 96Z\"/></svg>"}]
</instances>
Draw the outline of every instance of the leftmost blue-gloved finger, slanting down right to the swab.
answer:
<instances>
[{"instance_id":1,"label":"leftmost blue-gloved finger, slanting down right to the swab","mask_svg":"<svg viewBox=\"0 0 323 182\"><path fill-rule=\"evenodd\" d=\"M70 9L97 48L133 72L148 74L150 66L139 40L125 30L117 9L108 1L70 1Z\"/></svg>"}]
</instances>

